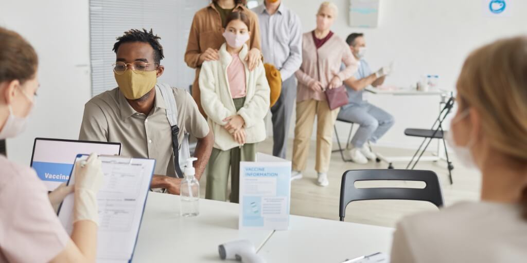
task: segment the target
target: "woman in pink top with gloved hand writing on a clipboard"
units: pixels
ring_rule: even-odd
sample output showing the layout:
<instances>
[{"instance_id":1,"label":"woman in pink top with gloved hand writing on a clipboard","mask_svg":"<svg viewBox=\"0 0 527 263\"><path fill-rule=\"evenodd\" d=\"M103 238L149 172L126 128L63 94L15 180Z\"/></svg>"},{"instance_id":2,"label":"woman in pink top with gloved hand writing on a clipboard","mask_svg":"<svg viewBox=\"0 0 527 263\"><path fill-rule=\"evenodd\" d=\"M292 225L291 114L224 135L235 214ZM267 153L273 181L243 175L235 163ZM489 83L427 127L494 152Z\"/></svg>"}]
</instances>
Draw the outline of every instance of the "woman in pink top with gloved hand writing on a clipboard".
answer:
<instances>
[{"instance_id":1,"label":"woman in pink top with gloved hand writing on a clipboard","mask_svg":"<svg viewBox=\"0 0 527 263\"><path fill-rule=\"evenodd\" d=\"M0 139L24 130L38 88L37 60L24 38L0 27ZM0 263L95 261L96 193L102 180L97 156L76 165L75 176L75 186L62 186L48 196L33 169L0 155ZM52 204L71 191L75 205L70 237Z\"/></svg>"}]
</instances>

